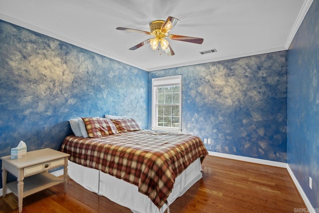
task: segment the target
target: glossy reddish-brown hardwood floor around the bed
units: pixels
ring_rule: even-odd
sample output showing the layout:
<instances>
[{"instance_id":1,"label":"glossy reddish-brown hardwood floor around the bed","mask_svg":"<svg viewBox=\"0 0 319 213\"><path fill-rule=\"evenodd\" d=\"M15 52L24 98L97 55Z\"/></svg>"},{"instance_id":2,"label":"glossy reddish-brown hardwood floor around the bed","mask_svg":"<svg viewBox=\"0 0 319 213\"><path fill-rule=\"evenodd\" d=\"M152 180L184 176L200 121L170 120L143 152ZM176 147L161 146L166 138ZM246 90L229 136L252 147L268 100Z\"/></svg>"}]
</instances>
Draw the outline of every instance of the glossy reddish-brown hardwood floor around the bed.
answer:
<instances>
[{"instance_id":1,"label":"glossy reddish-brown hardwood floor around the bed","mask_svg":"<svg viewBox=\"0 0 319 213\"><path fill-rule=\"evenodd\" d=\"M293 213L306 208L284 168L207 156L203 178L170 205L171 213ZM130 213L72 180L23 199L22 213ZM17 198L0 198L0 213L18 213Z\"/></svg>"}]
</instances>

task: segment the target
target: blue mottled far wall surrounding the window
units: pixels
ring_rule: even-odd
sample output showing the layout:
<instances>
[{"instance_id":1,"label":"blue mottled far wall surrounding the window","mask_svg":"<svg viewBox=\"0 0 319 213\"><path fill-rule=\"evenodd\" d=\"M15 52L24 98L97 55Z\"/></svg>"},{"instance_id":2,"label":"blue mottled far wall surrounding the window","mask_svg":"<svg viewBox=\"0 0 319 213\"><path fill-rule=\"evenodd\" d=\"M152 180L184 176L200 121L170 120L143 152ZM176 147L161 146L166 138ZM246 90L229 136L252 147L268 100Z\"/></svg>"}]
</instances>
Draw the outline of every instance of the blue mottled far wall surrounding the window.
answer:
<instances>
[{"instance_id":1,"label":"blue mottled far wall surrounding the window","mask_svg":"<svg viewBox=\"0 0 319 213\"><path fill-rule=\"evenodd\" d=\"M182 132L208 151L287 162L287 52L165 69L182 75ZM151 127L151 101L149 102Z\"/></svg>"}]
</instances>

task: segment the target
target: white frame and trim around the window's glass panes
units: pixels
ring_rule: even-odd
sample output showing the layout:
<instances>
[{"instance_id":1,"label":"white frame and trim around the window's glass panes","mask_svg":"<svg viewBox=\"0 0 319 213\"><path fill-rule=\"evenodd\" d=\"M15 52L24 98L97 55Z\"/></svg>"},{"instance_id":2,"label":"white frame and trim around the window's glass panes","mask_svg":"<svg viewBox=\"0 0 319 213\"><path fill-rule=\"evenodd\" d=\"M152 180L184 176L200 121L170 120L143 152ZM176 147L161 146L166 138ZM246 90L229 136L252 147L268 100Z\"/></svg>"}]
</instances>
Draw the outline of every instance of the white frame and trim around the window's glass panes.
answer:
<instances>
[{"instance_id":1,"label":"white frame and trim around the window's glass panes","mask_svg":"<svg viewBox=\"0 0 319 213\"><path fill-rule=\"evenodd\" d=\"M157 100L158 92L157 87L160 86L174 86L179 85L179 127L161 127L158 126L158 115L157 115ZM169 76L169 77L160 77L152 79L152 130L159 131L169 131L169 132L181 132L181 99L182 99L182 84L181 84L181 75Z\"/></svg>"}]
</instances>

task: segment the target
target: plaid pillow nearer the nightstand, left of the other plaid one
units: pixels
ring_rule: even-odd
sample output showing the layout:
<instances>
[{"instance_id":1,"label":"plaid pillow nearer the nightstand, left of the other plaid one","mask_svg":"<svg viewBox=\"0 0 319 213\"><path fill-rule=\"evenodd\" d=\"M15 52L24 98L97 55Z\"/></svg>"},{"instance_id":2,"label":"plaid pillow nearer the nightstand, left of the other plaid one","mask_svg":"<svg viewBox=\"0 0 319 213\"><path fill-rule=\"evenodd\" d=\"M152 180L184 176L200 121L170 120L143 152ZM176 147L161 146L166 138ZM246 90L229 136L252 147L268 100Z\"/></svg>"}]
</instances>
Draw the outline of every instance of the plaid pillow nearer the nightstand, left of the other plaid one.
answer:
<instances>
[{"instance_id":1,"label":"plaid pillow nearer the nightstand, left of the other plaid one","mask_svg":"<svg viewBox=\"0 0 319 213\"><path fill-rule=\"evenodd\" d=\"M106 118L82 118L89 138L119 134L111 120Z\"/></svg>"}]
</instances>

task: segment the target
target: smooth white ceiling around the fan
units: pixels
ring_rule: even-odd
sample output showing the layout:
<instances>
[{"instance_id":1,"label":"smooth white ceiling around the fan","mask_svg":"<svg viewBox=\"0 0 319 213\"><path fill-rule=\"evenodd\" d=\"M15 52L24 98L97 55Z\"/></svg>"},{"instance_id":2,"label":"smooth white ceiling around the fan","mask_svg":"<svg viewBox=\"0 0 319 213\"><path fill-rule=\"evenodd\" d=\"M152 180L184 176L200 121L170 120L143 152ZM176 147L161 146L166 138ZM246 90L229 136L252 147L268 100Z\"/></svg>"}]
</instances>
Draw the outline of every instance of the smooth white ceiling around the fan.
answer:
<instances>
[{"instance_id":1,"label":"smooth white ceiling around the fan","mask_svg":"<svg viewBox=\"0 0 319 213\"><path fill-rule=\"evenodd\" d=\"M146 71L287 50L313 0L0 0L0 19ZM170 33L204 38L169 40L175 55L150 44L153 20L178 18ZM216 49L201 55L199 52Z\"/></svg>"}]
</instances>

